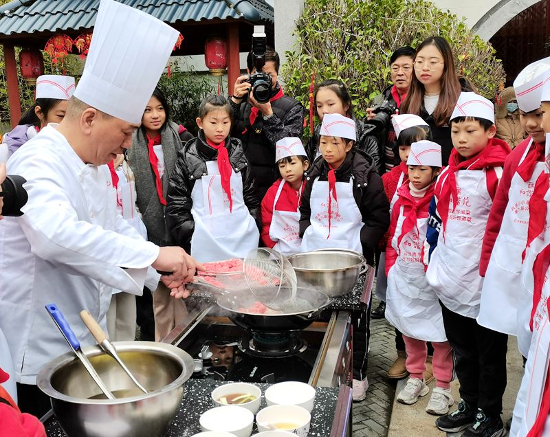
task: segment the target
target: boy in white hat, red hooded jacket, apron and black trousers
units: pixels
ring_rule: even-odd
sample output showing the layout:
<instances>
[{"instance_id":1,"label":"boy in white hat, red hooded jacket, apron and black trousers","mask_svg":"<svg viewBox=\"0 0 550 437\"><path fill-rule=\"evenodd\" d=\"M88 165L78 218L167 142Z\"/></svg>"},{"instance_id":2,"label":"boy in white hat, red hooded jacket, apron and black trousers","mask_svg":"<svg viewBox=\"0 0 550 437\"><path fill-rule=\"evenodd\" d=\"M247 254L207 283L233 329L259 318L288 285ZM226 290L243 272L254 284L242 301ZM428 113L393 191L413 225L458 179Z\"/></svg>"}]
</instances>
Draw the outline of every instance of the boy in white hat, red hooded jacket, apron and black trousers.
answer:
<instances>
[{"instance_id":1,"label":"boy in white hat, red hooded jacket, apron and black trousers","mask_svg":"<svg viewBox=\"0 0 550 437\"><path fill-rule=\"evenodd\" d=\"M441 301L462 400L458 412L438 418L436 425L445 432L466 429L465 436L501 435L507 335L481 326L476 317L483 235L510 148L494 138L492 102L476 93L461 93L450 124L454 149L430 205L426 278Z\"/></svg>"}]
</instances>

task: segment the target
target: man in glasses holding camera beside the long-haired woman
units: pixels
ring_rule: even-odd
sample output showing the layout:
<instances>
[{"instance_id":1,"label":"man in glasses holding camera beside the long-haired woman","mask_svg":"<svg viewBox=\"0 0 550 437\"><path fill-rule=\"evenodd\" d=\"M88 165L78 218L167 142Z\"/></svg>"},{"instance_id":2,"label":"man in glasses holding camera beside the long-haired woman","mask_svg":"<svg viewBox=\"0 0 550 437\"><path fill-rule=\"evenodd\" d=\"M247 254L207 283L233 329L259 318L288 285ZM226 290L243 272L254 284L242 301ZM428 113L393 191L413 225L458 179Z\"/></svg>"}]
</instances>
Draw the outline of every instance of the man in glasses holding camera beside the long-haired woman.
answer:
<instances>
[{"instance_id":1,"label":"man in glasses holding camera beside the long-haired woman","mask_svg":"<svg viewBox=\"0 0 550 437\"><path fill-rule=\"evenodd\" d=\"M390 171L396 164L399 157L395 154L397 139L391 123L391 115L399 113L399 105L405 99L412 76L412 58L415 56L415 49L408 45L399 47L390 57L391 81L390 85L382 94L373 100L373 107L368 108L367 120L369 123L379 126L380 156L384 163L383 172ZM397 162L399 164L399 162Z\"/></svg>"}]
</instances>

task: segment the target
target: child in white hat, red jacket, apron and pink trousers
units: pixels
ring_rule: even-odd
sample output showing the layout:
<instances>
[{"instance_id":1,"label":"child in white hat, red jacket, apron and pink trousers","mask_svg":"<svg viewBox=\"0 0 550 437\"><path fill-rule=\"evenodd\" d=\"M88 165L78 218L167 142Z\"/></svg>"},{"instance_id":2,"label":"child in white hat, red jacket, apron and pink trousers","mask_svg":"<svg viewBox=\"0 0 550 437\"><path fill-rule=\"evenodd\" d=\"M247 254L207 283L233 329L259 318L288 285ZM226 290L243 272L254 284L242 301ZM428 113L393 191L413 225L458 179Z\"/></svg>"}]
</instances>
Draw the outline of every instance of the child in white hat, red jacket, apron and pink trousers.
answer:
<instances>
[{"instance_id":1,"label":"child in white hat, red jacket, apron and pink trousers","mask_svg":"<svg viewBox=\"0 0 550 437\"><path fill-rule=\"evenodd\" d=\"M406 370L410 374L397 401L416 403L419 396L430 391L424 372L428 356L426 343L431 341L436 387L426 412L446 414L454 403L450 391L452 349L445 337L439 300L428 285L422 262L428 208L434 194L434 181L441 171L441 146L427 140L412 143L407 166L409 181L397 189L386 247L386 319L403 333Z\"/></svg>"}]
</instances>

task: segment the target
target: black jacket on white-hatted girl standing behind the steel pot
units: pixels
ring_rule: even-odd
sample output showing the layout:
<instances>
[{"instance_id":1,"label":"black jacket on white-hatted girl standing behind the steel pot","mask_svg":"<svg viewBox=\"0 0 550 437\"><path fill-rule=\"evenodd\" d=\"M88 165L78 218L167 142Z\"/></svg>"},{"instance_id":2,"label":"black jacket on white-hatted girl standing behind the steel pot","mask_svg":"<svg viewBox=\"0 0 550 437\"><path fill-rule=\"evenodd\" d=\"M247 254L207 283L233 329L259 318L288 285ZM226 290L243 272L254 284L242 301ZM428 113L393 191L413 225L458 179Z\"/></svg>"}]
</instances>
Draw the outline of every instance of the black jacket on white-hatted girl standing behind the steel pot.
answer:
<instances>
[{"instance_id":1,"label":"black jacket on white-hatted girl standing behind the steel pot","mask_svg":"<svg viewBox=\"0 0 550 437\"><path fill-rule=\"evenodd\" d=\"M329 180L329 166L320 157L314 162L311 170L305 174L306 186L300 205L300 236L311 222L311 207L309 198L311 188L317 177L320 181ZM374 265L374 251L378 240L384 236L390 227L390 204L384 192L382 177L377 175L374 160L362 150L351 149L342 165L335 171L337 182L353 183L353 197L361 212L364 223L361 229L361 245L366 262Z\"/></svg>"}]
</instances>

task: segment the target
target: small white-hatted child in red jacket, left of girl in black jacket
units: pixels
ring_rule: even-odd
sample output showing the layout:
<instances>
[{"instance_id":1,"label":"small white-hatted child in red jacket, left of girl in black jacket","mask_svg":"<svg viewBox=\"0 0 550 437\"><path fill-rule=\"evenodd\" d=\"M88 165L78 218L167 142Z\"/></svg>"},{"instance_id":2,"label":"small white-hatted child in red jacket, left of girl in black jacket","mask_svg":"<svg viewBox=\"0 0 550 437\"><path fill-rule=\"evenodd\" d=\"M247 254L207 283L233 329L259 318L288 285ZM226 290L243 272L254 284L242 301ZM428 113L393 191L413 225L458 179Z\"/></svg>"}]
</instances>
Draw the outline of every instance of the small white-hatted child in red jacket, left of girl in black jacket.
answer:
<instances>
[{"instance_id":1,"label":"small white-hatted child in red jacket, left of girl in black jacket","mask_svg":"<svg viewBox=\"0 0 550 437\"><path fill-rule=\"evenodd\" d=\"M300 251L300 200L309 161L302 140L281 138L275 144L275 165L281 178L267 190L261 203L262 242L284 255Z\"/></svg>"}]
</instances>

